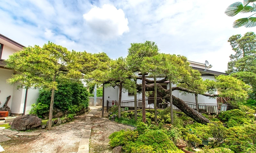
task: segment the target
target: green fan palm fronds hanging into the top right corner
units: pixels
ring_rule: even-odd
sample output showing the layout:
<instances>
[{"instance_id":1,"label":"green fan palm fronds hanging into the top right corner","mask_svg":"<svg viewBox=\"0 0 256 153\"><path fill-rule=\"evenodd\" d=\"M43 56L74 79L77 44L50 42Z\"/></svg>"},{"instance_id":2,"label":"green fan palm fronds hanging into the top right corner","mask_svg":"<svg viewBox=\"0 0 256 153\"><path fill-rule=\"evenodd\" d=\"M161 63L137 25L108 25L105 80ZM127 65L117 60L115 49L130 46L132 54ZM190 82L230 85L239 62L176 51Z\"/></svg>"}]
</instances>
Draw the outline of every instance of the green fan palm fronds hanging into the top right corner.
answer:
<instances>
[{"instance_id":1,"label":"green fan palm fronds hanging into the top right corner","mask_svg":"<svg viewBox=\"0 0 256 153\"><path fill-rule=\"evenodd\" d=\"M256 2L256 0L244 0L244 3L236 2L228 6L225 14L229 17L233 17L238 13L251 13L247 18L239 18L234 21L233 28L256 26L256 17L253 17L256 14L254 13L256 12L256 5L253 2ZM249 3L253 3L252 6L248 6Z\"/></svg>"}]
</instances>

